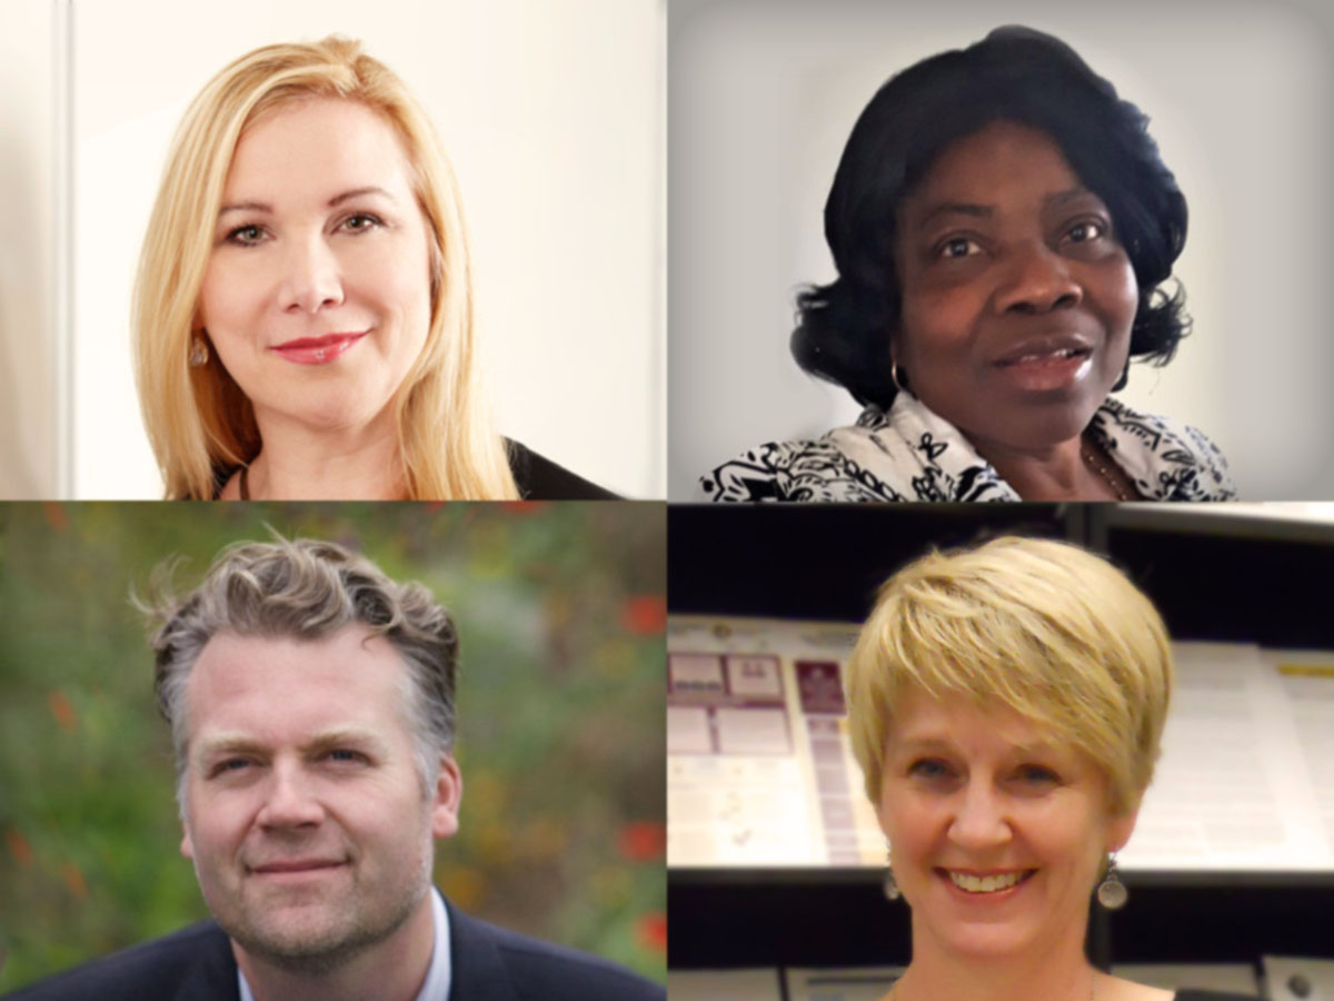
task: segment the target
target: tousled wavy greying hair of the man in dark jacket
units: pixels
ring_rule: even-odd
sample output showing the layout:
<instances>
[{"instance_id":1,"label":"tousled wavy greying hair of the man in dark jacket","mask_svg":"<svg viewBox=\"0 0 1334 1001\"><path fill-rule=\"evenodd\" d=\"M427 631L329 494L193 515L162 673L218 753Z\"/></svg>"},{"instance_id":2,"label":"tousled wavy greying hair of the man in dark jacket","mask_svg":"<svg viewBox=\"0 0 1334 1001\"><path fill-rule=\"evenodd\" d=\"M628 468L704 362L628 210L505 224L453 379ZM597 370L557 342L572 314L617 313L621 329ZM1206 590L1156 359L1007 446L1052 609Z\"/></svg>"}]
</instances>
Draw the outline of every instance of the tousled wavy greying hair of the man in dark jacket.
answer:
<instances>
[{"instance_id":1,"label":"tousled wavy greying hair of the man in dark jacket","mask_svg":"<svg viewBox=\"0 0 1334 1001\"><path fill-rule=\"evenodd\" d=\"M418 771L423 789L434 787L442 755L454 749L459 637L450 613L420 583L391 581L371 561L331 542L276 537L228 546L199 587L145 610L160 623L151 639L153 690L171 725L177 793L189 742L185 686L209 639L221 631L321 639L354 623L384 637L407 665Z\"/></svg>"}]
</instances>

